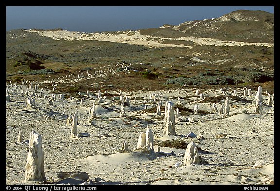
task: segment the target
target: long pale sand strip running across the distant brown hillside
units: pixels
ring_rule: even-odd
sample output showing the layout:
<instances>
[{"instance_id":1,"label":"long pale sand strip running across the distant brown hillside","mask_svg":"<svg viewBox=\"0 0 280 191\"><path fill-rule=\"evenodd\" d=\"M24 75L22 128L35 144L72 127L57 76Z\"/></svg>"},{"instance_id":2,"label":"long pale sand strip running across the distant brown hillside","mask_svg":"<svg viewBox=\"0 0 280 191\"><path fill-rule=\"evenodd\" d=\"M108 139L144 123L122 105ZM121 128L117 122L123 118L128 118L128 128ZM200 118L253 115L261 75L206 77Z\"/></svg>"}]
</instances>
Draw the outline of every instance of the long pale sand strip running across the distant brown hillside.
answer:
<instances>
[{"instance_id":1,"label":"long pale sand strip running across the distant brown hillside","mask_svg":"<svg viewBox=\"0 0 280 191\"><path fill-rule=\"evenodd\" d=\"M177 38L164 38L164 37L153 37L149 35L142 35L139 31L121 31L120 34L110 34L105 32L97 33L83 33L83 32L72 32L72 31L37 31L28 29L28 32L35 32L44 37L50 37L55 40L98 40L98 41L109 41L128 43L135 45L143 45L148 47L187 47L183 44L165 44L162 43L164 40L180 40L180 41L192 41L195 45L215 45L215 46L274 46L273 43L250 43L250 42L237 42L237 41L225 41L213 38L201 38L201 37L177 37ZM120 32L120 31L118 31Z\"/></svg>"}]
</instances>

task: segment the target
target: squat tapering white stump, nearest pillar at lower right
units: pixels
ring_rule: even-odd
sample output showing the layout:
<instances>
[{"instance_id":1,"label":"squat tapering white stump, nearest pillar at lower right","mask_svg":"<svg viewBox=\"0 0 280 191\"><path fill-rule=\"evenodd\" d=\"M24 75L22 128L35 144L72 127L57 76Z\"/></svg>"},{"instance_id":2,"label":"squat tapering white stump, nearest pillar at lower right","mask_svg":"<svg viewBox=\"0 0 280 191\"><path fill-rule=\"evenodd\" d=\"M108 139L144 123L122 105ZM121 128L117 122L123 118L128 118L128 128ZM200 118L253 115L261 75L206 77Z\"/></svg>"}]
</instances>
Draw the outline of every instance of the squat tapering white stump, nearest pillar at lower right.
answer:
<instances>
[{"instance_id":1,"label":"squat tapering white stump, nearest pillar at lower right","mask_svg":"<svg viewBox=\"0 0 280 191\"><path fill-rule=\"evenodd\" d=\"M184 156L185 165L194 165L201 164L200 157L198 154L198 149L194 142L190 142L187 146L185 156Z\"/></svg>"}]
</instances>

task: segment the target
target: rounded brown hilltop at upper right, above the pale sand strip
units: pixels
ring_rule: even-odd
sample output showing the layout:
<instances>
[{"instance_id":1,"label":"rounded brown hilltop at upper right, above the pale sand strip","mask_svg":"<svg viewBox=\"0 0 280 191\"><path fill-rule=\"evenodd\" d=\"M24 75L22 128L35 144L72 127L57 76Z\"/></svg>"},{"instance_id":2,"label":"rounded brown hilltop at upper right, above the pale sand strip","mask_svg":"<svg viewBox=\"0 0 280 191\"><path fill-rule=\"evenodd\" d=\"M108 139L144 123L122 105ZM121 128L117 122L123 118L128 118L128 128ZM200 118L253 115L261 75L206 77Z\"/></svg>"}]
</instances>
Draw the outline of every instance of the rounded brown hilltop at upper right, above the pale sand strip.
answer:
<instances>
[{"instance_id":1,"label":"rounded brown hilltop at upper right, above the pale sand strip","mask_svg":"<svg viewBox=\"0 0 280 191\"><path fill-rule=\"evenodd\" d=\"M273 43L274 14L265 11L238 10L219 18L194 20L178 26L143 29L141 34L161 37L202 37L227 41Z\"/></svg>"}]
</instances>

